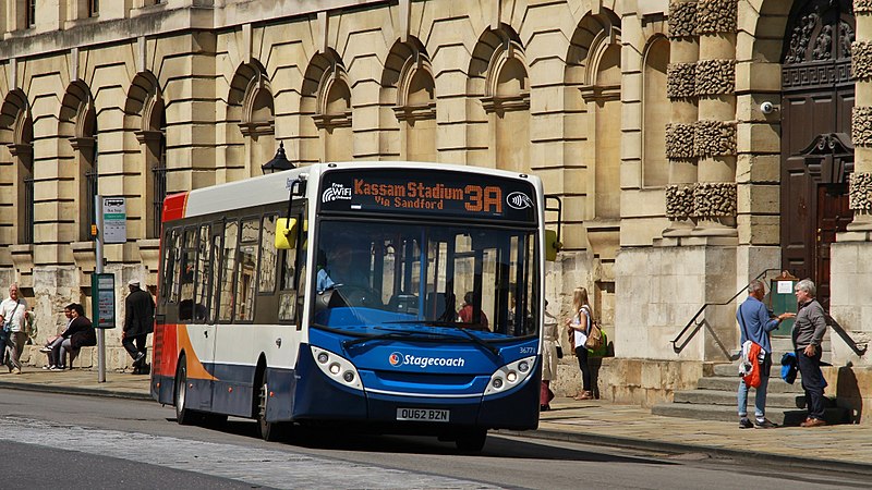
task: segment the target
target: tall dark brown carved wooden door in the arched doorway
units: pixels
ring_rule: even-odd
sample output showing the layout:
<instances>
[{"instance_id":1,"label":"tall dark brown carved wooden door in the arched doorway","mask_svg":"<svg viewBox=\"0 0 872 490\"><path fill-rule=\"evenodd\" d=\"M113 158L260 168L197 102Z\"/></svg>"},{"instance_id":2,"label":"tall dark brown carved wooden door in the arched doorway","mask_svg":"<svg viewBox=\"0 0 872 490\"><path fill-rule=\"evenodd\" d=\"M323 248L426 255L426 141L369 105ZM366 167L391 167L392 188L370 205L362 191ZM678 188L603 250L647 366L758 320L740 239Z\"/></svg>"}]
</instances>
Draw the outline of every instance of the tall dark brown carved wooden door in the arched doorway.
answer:
<instances>
[{"instance_id":1,"label":"tall dark brown carved wooden door in the arched doorway","mask_svg":"<svg viewBox=\"0 0 872 490\"><path fill-rule=\"evenodd\" d=\"M782 267L829 303L829 245L851 222L850 0L797 2L782 58Z\"/></svg>"}]
</instances>

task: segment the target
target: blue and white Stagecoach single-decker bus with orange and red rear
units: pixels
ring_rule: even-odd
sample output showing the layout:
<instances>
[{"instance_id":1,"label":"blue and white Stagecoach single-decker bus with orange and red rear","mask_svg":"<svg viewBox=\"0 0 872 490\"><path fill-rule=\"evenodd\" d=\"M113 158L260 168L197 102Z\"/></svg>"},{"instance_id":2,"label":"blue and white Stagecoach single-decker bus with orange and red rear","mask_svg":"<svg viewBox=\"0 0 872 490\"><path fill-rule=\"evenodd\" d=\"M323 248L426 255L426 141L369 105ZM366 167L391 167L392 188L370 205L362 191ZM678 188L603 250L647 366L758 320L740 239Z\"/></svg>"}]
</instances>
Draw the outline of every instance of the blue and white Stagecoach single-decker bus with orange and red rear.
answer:
<instances>
[{"instance_id":1,"label":"blue and white Stagecoach single-decker bus with orange and red rear","mask_svg":"<svg viewBox=\"0 0 872 490\"><path fill-rule=\"evenodd\" d=\"M538 424L544 196L533 175L319 163L169 196L152 394L477 451ZM552 246L550 244L548 245Z\"/></svg>"}]
</instances>

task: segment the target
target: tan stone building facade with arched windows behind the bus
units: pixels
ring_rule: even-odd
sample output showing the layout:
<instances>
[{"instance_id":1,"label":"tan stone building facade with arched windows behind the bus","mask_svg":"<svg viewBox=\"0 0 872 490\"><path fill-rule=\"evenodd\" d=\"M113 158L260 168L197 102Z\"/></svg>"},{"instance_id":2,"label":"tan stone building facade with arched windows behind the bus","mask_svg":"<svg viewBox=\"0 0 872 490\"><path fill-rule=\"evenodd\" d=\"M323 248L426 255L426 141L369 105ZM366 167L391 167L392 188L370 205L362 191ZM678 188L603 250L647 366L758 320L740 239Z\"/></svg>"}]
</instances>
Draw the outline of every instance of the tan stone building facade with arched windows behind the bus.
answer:
<instances>
[{"instance_id":1,"label":"tan stone building facade with arched windows behind the bus","mask_svg":"<svg viewBox=\"0 0 872 490\"><path fill-rule=\"evenodd\" d=\"M614 343L602 396L692 387L737 347L726 299L788 269L825 286L831 385L861 407L869 27L869 0L3 1L0 283L43 334L87 304L99 193L128 198L106 270L154 285L162 196L257 175L279 143L533 172L565 209L546 293L586 286Z\"/></svg>"}]
</instances>

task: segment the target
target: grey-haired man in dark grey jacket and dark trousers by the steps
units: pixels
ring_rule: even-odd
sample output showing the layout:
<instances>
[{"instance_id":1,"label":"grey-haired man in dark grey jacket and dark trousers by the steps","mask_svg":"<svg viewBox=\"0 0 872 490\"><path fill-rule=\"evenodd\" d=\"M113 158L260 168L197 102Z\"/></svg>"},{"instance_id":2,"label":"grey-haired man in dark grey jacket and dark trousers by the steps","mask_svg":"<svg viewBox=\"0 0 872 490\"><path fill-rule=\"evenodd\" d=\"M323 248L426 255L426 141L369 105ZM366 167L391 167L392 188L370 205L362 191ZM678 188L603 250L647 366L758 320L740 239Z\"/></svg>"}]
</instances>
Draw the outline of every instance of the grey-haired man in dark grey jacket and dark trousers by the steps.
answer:
<instances>
[{"instance_id":1,"label":"grey-haired man in dark grey jacket and dark trousers by the steps","mask_svg":"<svg viewBox=\"0 0 872 490\"><path fill-rule=\"evenodd\" d=\"M826 332L826 313L814 298L816 287L808 279L799 281L795 287L799 311L794 323L794 348L797 353L799 372L802 375L802 389L806 390L806 404L809 416L801 427L825 426L824 380L821 372L821 341Z\"/></svg>"}]
</instances>

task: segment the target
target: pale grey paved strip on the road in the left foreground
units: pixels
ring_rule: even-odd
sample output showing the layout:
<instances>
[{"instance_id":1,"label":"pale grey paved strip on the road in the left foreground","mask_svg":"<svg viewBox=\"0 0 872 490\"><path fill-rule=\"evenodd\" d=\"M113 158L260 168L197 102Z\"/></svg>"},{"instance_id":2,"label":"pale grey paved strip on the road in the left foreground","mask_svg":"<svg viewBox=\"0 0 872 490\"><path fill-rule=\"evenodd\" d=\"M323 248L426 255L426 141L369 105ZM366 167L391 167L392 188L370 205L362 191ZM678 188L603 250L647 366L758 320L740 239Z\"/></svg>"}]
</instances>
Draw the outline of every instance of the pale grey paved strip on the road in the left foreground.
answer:
<instances>
[{"instance_id":1,"label":"pale grey paved strip on the road in the left foreground","mask_svg":"<svg viewBox=\"0 0 872 490\"><path fill-rule=\"evenodd\" d=\"M191 441L141 432L0 418L0 440L158 465L272 488L498 488L476 481L382 468L306 454ZM135 448L135 451L132 450Z\"/></svg>"}]
</instances>

